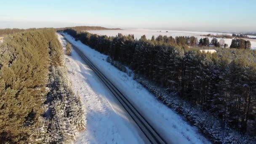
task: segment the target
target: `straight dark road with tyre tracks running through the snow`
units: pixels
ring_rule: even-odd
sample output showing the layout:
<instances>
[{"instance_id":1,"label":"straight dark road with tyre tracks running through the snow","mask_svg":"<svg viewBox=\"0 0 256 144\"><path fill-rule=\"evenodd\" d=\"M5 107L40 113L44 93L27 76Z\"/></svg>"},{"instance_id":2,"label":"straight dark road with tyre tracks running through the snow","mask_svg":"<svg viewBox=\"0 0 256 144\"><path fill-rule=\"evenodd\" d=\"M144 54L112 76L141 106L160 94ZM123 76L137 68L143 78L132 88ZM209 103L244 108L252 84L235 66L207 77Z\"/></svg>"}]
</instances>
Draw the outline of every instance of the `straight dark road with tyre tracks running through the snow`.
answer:
<instances>
[{"instance_id":1,"label":"straight dark road with tyre tracks running through the snow","mask_svg":"<svg viewBox=\"0 0 256 144\"><path fill-rule=\"evenodd\" d=\"M61 34L62 35L62 34ZM67 38L62 35L66 41ZM71 43L72 45L72 43ZM167 144L165 139L160 136L160 134L155 130L155 128L141 115L141 113L135 109L130 101L126 98L125 94L121 93L120 90L110 81L108 78L99 70L99 68L93 64L93 62L85 56L85 54L80 51L75 45L72 45L72 48L78 53L78 55L88 64L88 66L95 72L99 79L107 86L109 91L116 97L120 102L126 112L131 116L136 125L147 137L148 141L152 144Z\"/></svg>"}]
</instances>

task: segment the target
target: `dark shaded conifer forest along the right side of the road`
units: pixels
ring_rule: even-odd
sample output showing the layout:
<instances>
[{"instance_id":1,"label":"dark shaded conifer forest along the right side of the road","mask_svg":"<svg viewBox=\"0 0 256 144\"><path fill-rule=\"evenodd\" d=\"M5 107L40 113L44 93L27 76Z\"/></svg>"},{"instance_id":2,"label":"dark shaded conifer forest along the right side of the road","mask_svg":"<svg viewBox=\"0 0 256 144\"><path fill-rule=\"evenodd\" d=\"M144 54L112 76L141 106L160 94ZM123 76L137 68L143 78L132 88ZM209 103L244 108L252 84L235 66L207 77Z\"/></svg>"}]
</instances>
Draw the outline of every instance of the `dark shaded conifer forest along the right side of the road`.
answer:
<instances>
[{"instance_id":1,"label":"dark shaded conifer forest along the right side of the road","mask_svg":"<svg viewBox=\"0 0 256 144\"><path fill-rule=\"evenodd\" d=\"M195 48L174 47L171 43L178 45L177 40L170 37L167 42L163 36L134 40L133 35L107 37L73 29L64 32L169 91L178 91L191 104L218 117L223 128L229 125L256 134L256 64L255 58L253 62L243 58L244 50L235 50L241 56L233 59L228 57L234 55L232 49L201 53Z\"/></svg>"}]
</instances>

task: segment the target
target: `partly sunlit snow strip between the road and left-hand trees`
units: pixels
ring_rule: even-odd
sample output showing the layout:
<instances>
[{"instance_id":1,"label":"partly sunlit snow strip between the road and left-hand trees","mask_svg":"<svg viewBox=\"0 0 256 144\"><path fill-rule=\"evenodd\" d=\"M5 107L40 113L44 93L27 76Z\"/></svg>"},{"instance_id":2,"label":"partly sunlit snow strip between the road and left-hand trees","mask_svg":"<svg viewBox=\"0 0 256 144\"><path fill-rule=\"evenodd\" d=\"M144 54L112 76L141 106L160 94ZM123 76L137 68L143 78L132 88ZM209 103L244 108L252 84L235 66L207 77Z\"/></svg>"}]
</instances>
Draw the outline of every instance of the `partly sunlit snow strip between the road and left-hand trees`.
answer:
<instances>
[{"instance_id":1,"label":"partly sunlit snow strip between the road and left-hand trees","mask_svg":"<svg viewBox=\"0 0 256 144\"><path fill-rule=\"evenodd\" d=\"M65 47L66 40L59 34L58 38ZM143 143L136 127L129 121L123 109L119 108L117 100L80 56L72 50L72 55L65 55L64 59L73 91L80 95L86 109L87 126L76 143Z\"/></svg>"}]
</instances>

